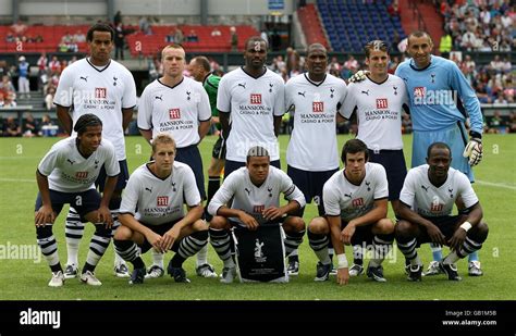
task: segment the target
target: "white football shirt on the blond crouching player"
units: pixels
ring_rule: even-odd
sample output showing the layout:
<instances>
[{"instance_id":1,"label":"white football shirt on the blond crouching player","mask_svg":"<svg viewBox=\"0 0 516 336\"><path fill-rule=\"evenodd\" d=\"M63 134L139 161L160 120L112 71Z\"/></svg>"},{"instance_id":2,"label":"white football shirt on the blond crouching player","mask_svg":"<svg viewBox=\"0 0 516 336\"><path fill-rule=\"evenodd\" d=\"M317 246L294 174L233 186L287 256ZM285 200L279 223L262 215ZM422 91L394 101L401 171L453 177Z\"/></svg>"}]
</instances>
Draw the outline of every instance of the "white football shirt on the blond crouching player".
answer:
<instances>
[{"instance_id":1,"label":"white football shirt on the blond crouching player","mask_svg":"<svg viewBox=\"0 0 516 336\"><path fill-rule=\"evenodd\" d=\"M131 213L147 225L161 225L184 217L184 204L200 203L192 169L174 161L172 174L159 178L145 163L131 174L120 213Z\"/></svg>"}]
</instances>

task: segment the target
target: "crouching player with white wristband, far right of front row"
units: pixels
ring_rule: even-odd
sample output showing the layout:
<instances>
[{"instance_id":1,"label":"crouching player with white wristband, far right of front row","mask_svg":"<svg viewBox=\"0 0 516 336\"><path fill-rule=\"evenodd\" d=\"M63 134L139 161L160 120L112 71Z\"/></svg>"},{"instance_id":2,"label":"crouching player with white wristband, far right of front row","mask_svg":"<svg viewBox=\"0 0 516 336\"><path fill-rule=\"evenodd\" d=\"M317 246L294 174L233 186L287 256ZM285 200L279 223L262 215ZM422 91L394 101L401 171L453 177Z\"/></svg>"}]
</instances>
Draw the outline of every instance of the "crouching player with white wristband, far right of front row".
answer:
<instances>
[{"instance_id":1,"label":"crouching player with white wristband, far right of front row","mask_svg":"<svg viewBox=\"0 0 516 336\"><path fill-rule=\"evenodd\" d=\"M477 195L468 177L450 166L452 159L450 146L434 142L428 148L427 164L411 169L405 178L395 235L397 247L410 262L408 281L421 281L422 263L416 251L421 244L450 246L439 267L449 279L460 281L455 262L480 250L488 237ZM466 209L451 215L457 198Z\"/></svg>"}]
</instances>

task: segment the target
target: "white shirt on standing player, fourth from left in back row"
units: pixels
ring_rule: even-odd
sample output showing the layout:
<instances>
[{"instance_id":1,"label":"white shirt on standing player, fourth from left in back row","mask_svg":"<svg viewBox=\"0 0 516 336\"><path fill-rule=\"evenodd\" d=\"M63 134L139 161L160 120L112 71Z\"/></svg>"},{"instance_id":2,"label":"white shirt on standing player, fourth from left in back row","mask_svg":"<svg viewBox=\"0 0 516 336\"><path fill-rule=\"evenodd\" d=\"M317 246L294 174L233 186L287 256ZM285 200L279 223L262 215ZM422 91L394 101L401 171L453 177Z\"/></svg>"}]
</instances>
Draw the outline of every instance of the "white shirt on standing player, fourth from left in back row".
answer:
<instances>
[{"instance_id":1,"label":"white shirt on standing player, fourth from left in back row","mask_svg":"<svg viewBox=\"0 0 516 336\"><path fill-rule=\"evenodd\" d=\"M331 75L319 84L307 73L286 83L285 104L294 112L294 130L286 149L288 165L310 172L339 167L335 117L346 92L346 83Z\"/></svg>"}]
</instances>

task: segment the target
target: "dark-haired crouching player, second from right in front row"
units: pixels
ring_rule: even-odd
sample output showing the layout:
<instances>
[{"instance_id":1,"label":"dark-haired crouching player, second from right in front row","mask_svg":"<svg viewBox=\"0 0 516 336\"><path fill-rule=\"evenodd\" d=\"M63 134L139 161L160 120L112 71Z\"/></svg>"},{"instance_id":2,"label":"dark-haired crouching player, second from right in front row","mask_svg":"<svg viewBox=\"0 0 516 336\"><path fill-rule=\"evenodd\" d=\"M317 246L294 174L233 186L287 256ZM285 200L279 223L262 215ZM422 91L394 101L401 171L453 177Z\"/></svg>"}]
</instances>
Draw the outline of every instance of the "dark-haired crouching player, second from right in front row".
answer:
<instances>
[{"instance_id":1,"label":"dark-haired crouching player, second from right in front row","mask_svg":"<svg viewBox=\"0 0 516 336\"><path fill-rule=\"evenodd\" d=\"M315 217L308 226L308 241L319 262L316 282L330 277L332 267L328 253L328 234L339 260L336 282L347 285L349 270L345 245L372 245L373 257L367 276L386 282L382 262L394 240L394 223L386 217L389 183L385 169L369 161L367 145L352 139L342 148L344 169L330 177L322 188L324 217Z\"/></svg>"}]
</instances>

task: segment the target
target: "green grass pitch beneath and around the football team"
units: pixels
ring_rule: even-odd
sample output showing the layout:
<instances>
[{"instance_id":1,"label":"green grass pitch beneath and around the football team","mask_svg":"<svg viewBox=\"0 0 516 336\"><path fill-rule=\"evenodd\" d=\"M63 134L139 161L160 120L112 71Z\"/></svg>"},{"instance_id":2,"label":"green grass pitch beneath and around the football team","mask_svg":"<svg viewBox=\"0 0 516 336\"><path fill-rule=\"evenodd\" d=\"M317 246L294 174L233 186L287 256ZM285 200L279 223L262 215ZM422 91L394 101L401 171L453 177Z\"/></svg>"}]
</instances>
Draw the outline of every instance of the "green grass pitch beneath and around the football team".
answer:
<instances>
[{"instance_id":1,"label":"green grass pitch beneath and around the football team","mask_svg":"<svg viewBox=\"0 0 516 336\"><path fill-rule=\"evenodd\" d=\"M339 136L339 148L349 136ZM467 276L467 263L458 263L463 282L449 282L444 275L423 278L421 283L408 283L403 270L404 261L396 249L395 258L384 262L388 283L379 284L361 275L352 278L348 286L337 286L334 277L330 282L315 283L316 256L307 238L299 250L300 273L288 284L239 284L222 285L218 279L206 279L195 275L195 258L185 262L191 284L175 284L169 276L147 281L143 286L132 287L126 279L113 275L112 245L97 267L97 276L103 283L100 288L67 281L62 288L50 288L47 283L50 272L41 258L21 259L12 253L22 245L36 246L34 226L34 201L37 194L35 171L42 155L58 138L1 138L0 139L0 300L514 300L514 219L516 216L516 136L486 135L483 162L475 167L475 189L484 211L490 234L480 251L484 275ZM208 136L200 146L205 171L211 157L216 138ZM287 136L280 137L282 159L285 158ZM410 136L404 136L407 163L410 162ZM127 162L130 171L149 157L150 148L142 137L127 137ZM323 149L321 149L323 150ZM286 163L283 162L286 169ZM64 264L64 215L57 219L53 229L59 242L59 254ZM316 215L310 204L305 213L308 222ZM390 212L392 216L392 212ZM81 245L79 261L87 253L93 225L87 226ZM445 249L446 253L447 249ZM431 259L430 248L423 246L419 253L425 265ZM349 259L349 249L347 249ZM147 265L150 253L145 254ZM171 254L165 257L165 262ZM209 261L220 272L222 263L210 247ZM367 261L366 261L367 262Z\"/></svg>"}]
</instances>

